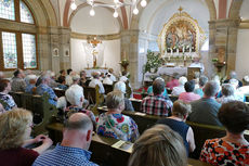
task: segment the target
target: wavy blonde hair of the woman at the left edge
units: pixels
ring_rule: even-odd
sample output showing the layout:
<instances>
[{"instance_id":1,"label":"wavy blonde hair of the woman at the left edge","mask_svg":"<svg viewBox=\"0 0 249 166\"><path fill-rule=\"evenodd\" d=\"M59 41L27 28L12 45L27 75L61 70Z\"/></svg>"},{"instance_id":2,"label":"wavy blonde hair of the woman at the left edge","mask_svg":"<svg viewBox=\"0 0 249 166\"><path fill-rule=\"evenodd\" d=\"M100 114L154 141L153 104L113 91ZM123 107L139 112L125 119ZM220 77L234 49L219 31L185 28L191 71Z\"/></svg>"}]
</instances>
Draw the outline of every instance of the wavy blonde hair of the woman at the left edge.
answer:
<instances>
[{"instance_id":1,"label":"wavy blonde hair of the woman at the left edge","mask_svg":"<svg viewBox=\"0 0 249 166\"><path fill-rule=\"evenodd\" d=\"M14 108L0 115L0 149L15 149L22 146L27 125L32 115L24 108Z\"/></svg>"}]
</instances>

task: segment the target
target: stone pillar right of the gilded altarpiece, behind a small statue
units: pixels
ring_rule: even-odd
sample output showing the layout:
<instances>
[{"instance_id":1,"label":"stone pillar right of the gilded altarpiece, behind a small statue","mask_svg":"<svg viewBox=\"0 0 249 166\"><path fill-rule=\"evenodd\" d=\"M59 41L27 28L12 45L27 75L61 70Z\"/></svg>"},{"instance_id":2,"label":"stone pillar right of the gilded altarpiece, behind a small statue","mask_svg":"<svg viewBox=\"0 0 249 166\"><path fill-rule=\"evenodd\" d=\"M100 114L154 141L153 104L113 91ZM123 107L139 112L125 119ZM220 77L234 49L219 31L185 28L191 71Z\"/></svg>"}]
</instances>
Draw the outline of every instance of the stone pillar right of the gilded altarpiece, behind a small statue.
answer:
<instances>
[{"instance_id":1,"label":"stone pillar right of the gilded altarpiece, behind a small statue","mask_svg":"<svg viewBox=\"0 0 249 166\"><path fill-rule=\"evenodd\" d=\"M235 69L237 33L239 20L218 20L209 22L209 62L218 58L218 50L224 48L226 65L222 68L221 76L224 77ZM211 73L215 71L210 65Z\"/></svg>"}]
</instances>

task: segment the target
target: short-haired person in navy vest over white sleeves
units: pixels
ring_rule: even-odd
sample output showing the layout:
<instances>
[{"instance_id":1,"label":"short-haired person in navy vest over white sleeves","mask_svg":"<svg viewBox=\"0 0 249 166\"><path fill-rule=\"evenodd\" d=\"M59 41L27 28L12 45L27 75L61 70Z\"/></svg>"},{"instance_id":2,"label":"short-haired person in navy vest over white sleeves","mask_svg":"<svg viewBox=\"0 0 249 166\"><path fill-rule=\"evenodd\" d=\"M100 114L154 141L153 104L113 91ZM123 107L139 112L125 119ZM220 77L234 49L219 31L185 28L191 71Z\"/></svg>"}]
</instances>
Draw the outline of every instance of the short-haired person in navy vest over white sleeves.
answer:
<instances>
[{"instance_id":1,"label":"short-haired person in navy vest over white sleeves","mask_svg":"<svg viewBox=\"0 0 249 166\"><path fill-rule=\"evenodd\" d=\"M183 139L187 154L195 150L195 138L191 126L185 124L188 114L191 113L191 105L183 101L175 101L172 107L172 116L161 118L157 124L169 126L172 130L176 131Z\"/></svg>"}]
</instances>

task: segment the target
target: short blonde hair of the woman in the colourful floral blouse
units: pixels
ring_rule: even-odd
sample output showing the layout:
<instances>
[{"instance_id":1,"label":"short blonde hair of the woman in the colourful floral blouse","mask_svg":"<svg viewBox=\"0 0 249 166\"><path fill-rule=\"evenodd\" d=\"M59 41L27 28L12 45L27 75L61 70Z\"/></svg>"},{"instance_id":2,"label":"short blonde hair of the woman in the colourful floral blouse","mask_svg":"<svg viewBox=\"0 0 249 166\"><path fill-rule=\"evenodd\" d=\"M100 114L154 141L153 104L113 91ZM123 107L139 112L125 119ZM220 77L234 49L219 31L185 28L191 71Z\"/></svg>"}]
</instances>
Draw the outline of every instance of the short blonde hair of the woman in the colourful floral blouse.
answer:
<instances>
[{"instance_id":1,"label":"short blonde hair of the woman in the colourful floral blouse","mask_svg":"<svg viewBox=\"0 0 249 166\"><path fill-rule=\"evenodd\" d=\"M120 90L114 90L106 97L107 108L118 108L124 102L123 93Z\"/></svg>"}]
</instances>

